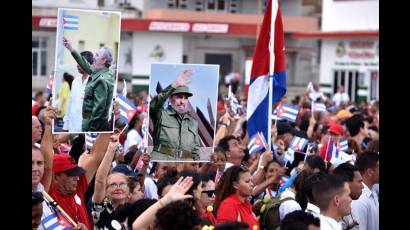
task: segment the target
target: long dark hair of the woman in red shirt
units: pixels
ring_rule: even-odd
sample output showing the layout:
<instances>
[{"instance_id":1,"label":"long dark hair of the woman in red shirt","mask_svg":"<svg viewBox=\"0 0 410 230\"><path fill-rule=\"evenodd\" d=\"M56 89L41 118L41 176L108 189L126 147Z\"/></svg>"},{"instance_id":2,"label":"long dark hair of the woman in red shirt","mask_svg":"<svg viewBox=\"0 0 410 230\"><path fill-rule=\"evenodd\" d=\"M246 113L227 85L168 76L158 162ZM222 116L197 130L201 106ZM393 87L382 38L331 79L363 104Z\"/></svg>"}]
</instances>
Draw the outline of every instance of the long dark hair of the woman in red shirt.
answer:
<instances>
[{"instance_id":1,"label":"long dark hair of the woman in red shirt","mask_svg":"<svg viewBox=\"0 0 410 230\"><path fill-rule=\"evenodd\" d=\"M215 213L217 213L222 201L236 192L233 183L238 182L240 174L245 172L249 172L249 169L242 165L231 166L224 172L216 187L217 194L214 202Z\"/></svg>"}]
</instances>

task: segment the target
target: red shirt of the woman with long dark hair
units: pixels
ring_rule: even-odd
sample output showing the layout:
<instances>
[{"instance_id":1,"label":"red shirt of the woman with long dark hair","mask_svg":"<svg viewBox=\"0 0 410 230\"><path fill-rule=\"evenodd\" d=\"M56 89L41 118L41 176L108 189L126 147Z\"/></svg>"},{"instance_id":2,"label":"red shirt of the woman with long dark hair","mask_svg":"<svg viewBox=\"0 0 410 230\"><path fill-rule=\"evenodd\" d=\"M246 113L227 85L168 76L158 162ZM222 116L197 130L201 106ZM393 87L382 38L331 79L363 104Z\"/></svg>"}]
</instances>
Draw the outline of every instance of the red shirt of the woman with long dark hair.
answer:
<instances>
[{"instance_id":1,"label":"red shirt of the woman with long dark hair","mask_svg":"<svg viewBox=\"0 0 410 230\"><path fill-rule=\"evenodd\" d=\"M218 224L229 221L248 224L250 230L254 230L255 225L258 227L257 230L260 229L259 221L252 211L252 205L247 200L241 202L235 194L222 201L216 217Z\"/></svg>"}]
</instances>

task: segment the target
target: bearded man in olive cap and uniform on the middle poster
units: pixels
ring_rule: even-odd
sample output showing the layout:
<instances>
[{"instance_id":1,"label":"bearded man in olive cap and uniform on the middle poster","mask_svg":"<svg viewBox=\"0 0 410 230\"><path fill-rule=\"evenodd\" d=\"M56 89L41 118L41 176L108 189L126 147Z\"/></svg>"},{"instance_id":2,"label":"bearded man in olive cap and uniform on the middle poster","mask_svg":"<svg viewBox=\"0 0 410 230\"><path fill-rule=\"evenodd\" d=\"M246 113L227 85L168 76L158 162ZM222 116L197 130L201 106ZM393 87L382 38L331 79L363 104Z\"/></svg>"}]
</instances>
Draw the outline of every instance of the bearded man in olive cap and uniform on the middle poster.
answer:
<instances>
[{"instance_id":1,"label":"bearded man in olive cap and uniform on the middle poster","mask_svg":"<svg viewBox=\"0 0 410 230\"><path fill-rule=\"evenodd\" d=\"M184 70L177 79L150 102L150 118L154 124L153 160L199 160L198 122L189 114L186 86L192 70ZM165 101L170 105L163 109Z\"/></svg>"}]
</instances>

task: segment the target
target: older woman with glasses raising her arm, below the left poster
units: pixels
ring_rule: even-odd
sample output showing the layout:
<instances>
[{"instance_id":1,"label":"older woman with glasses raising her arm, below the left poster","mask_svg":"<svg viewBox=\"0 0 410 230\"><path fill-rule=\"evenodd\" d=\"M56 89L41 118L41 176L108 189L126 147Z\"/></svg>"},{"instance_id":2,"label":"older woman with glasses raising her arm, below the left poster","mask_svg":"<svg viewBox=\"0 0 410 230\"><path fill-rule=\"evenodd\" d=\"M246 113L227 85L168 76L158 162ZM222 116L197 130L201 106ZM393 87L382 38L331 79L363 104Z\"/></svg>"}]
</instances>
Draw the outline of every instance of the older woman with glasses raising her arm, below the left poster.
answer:
<instances>
[{"instance_id":1,"label":"older woman with glasses raising her arm, below the left poster","mask_svg":"<svg viewBox=\"0 0 410 230\"><path fill-rule=\"evenodd\" d=\"M92 216L95 229L126 229L124 223L116 220L116 212L114 211L124 205L131 197L130 180L120 172L108 175L118 144L118 135L116 135L111 138L107 152L95 175L92 198Z\"/></svg>"}]
</instances>

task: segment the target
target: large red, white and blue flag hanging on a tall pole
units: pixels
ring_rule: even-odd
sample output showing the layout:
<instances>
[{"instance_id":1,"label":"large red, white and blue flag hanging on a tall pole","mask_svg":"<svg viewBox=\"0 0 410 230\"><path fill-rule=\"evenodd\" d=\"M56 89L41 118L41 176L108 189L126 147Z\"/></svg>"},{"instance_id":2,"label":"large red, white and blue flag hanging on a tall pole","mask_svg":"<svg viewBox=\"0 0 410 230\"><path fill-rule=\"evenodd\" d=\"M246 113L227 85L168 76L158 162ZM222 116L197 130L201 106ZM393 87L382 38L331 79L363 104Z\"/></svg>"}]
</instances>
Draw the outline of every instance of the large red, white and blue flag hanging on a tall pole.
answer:
<instances>
[{"instance_id":1,"label":"large red, white and blue flag hanging on a tall pole","mask_svg":"<svg viewBox=\"0 0 410 230\"><path fill-rule=\"evenodd\" d=\"M269 87L269 78L272 85ZM269 104L269 90L272 100ZM271 143L270 126L272 105L286 93L285 44L282 16L278 0L271 0L266 7L261 31L256 44L247 107L248 134L261 132ZM270 111L269 111L270 110Z\"/></svg>"}]
</instances>

